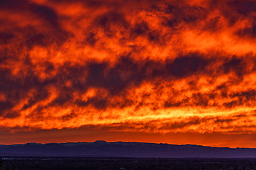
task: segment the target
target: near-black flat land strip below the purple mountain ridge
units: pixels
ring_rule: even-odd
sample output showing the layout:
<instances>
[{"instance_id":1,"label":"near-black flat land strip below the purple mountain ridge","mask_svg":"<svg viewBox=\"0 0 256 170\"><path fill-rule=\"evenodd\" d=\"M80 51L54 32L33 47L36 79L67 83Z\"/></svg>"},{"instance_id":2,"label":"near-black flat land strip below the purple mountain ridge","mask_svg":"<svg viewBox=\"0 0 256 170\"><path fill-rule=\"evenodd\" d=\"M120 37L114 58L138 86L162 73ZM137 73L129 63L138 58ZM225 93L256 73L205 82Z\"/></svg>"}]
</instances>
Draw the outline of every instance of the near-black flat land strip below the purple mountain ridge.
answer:
<instances>
[{"instance_id":1,"label":"near-black flat land strip below the purple mountain ridge","mask_svg":"<svg viewBox=\"0 0 256 170\"><path fill-rule=\"evenodd\" d=\"M256 158L1 157L0 169L256 169Z\"/></svg>"}]
</instances>

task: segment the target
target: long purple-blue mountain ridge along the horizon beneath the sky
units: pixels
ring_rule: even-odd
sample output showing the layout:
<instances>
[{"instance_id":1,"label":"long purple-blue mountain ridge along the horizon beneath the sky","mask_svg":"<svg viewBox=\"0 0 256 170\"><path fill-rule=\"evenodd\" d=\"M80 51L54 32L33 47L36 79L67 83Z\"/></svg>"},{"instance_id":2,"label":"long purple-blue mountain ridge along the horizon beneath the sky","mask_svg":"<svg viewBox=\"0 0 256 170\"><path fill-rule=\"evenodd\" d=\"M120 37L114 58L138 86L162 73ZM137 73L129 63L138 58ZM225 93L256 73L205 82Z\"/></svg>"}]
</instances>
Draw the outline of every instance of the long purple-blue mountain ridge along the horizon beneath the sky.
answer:
<instances>
[{"instance_id":1,"label":"long purple-blue mountain ridge along the horizon beneath the sky","mask_svg":"<svg viewBox=\"0 0 256 170\"><path fill-rule=\"evenodd\" d=\"M256 158L256 149L146 142L66 142L0 145L0 156L84 156L140 158Z\"/></svg>"}]
</instances>

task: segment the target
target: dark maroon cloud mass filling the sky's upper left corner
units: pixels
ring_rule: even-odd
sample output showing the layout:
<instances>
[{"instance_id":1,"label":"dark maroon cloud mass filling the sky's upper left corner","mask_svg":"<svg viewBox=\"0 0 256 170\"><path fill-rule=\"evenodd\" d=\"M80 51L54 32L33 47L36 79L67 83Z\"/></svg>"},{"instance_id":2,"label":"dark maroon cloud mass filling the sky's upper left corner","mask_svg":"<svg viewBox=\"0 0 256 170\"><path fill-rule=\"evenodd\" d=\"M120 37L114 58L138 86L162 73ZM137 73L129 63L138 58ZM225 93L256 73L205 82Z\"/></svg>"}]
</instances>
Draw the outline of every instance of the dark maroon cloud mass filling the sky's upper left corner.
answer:
<instances>
[{"instance_id":1,"label":"dark maroon cloud mass filling the sky's upper left corner","mask_svg":"<svg viewBox=\"0 0 256 170\"><path fill-rule=\"evenodd\" d=\"M30 48L34 45L46 47L53 43L62 45L69 37L73 36L71 32L62 28L59 15L53 8L24 0L1 1L0 3L2 3L0 10L9 10L10 13L16 14L17 18L28 18L23 21L26 23L25 26L19 25L12 19L4 21L4 31L0 32L0 43L5 44L13 40L23 41L21 45Z\"/></svg>"}]
</instances>

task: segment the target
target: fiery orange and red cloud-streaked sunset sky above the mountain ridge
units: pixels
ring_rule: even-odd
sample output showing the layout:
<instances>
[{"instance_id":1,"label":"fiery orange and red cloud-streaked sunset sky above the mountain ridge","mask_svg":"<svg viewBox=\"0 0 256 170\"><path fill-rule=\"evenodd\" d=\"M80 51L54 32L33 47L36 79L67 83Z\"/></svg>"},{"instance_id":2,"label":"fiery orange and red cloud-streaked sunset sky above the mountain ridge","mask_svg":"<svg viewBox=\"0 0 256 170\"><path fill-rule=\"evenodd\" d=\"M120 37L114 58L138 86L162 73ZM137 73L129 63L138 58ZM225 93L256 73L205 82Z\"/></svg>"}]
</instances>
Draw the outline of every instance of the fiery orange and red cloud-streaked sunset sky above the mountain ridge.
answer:
<instances>
[{"instance_id":1,"label":"fiery orange and red cloud-streaked sunset sky above the mountain ridge","mask_svg":"<svg viewBox=\"0 0 256 170\"><path fill-rule=\"evenodd\" d=\"M256 1L1 0L0 144L256 147Z\"/></svg>"}]
</instances>

